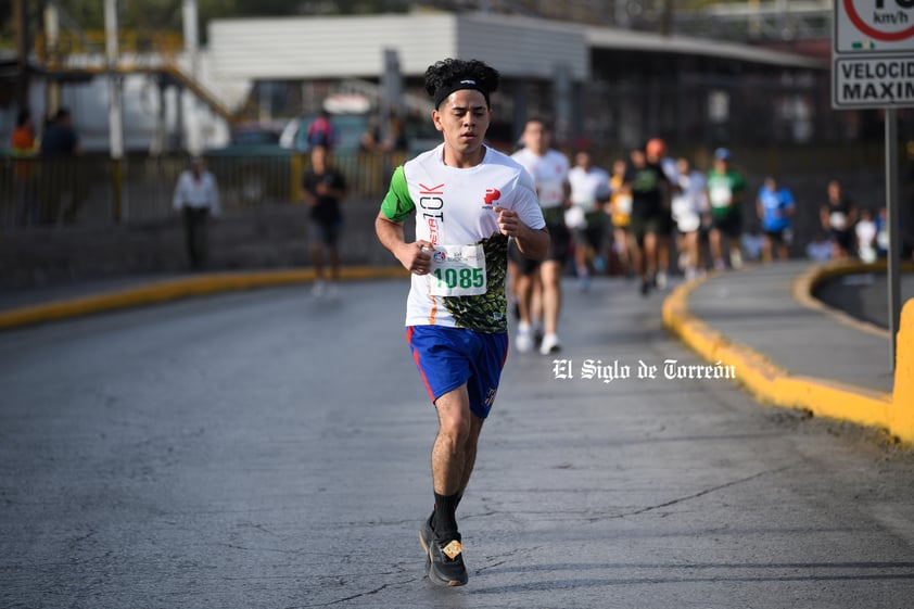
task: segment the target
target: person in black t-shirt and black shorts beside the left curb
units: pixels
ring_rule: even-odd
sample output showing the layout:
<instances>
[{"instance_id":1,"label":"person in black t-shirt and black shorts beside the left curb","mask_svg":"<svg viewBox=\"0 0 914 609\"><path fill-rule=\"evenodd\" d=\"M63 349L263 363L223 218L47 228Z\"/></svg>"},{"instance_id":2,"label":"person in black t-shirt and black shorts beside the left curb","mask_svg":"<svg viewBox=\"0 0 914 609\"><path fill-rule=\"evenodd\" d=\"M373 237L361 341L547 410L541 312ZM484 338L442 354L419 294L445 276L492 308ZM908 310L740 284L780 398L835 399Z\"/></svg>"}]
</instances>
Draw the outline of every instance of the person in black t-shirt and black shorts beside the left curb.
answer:
<instances>
[{"instance_id":1,"label":"person in black t-shirt and black shorts beside the left curb","mask_svg":"<svg viewBox=\"0 0 914 609\"><path fill-rule=\"evenodd\" d=\"M310 251L314 263L314 294L337 295L340 281L340 229L343 214L340 202L346 196L346 180L331 163L325 145L312 149L312 165L302 176L302 198L310 206ZM330 259L330 283L323 272L323 251Z\"/></svg>"}]
</instances>

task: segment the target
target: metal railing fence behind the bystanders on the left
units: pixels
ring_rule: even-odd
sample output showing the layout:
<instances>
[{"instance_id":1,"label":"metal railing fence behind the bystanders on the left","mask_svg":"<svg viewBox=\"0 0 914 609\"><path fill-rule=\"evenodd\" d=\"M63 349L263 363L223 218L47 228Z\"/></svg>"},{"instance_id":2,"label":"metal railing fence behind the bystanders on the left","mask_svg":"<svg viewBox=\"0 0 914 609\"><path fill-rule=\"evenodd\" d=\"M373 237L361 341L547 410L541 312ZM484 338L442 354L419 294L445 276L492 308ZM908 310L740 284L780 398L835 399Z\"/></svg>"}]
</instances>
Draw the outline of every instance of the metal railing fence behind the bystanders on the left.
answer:
<instances>
[{"instance_id":1,"label":"metal railing fence behind the bystanders on the left","mask_svg":"<svg viewBox=\"0 0 914 609\"><path fill-rule=\"evenodd\" d=\"M206 155L226 212L297 204L304 154ZM172 198L187 155L0 157L0 229L155 223L174 214ZM402 154L340 153L334 164L348 196L378 199Z\"/></svg>"}]
</instances>

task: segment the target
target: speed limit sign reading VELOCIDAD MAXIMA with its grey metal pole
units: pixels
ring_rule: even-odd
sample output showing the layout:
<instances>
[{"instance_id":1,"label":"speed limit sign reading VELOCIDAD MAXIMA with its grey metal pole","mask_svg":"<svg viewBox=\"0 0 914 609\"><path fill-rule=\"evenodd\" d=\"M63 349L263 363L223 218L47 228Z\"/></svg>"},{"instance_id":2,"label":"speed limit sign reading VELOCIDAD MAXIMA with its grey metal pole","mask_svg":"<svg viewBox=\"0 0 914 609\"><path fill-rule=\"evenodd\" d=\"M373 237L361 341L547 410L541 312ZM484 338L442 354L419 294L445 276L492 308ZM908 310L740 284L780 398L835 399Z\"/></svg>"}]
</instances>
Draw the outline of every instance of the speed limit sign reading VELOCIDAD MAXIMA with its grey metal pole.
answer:
<instances>
[{"instance_id":1,"label":"speed limit sign reading VELOCIDAD MAXIMA with its grey metal pole","mask_svg":"<svg viewBox=\"0 0 914 609\"><path fill-rule=\"evenodd\" d=\"M914 106L914 0L835 0L832 106L885 111L891 367L901 321L898 109Z\"/></svg>"}]
</instances>

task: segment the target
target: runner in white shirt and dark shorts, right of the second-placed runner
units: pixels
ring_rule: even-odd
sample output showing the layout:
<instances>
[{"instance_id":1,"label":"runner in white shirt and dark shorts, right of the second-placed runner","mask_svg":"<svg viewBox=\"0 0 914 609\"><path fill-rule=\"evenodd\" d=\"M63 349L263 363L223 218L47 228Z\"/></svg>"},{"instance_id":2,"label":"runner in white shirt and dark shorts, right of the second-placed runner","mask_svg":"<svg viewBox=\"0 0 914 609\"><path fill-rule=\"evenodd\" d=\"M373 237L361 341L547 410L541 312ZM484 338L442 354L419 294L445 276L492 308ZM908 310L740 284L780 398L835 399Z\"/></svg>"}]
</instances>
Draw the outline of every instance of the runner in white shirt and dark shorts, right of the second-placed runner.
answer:
<instances>
[{"instance_id":1,"label":"runner in white shirt and dark shorts, right of the second-placed runner","mask_svg":"<svg viewBox=\"0 0 914 609\"><path fill-rule=\"evenodd\" d=\"M574 265L581 289L591 287L591 265L602 255L607 215L604 205L609 201L609 174L593 164L591 153L579 151L574 167L568 173L571 186L571 206L566 211L566 224L572 231Z\"/></svg>"}]
</instances>

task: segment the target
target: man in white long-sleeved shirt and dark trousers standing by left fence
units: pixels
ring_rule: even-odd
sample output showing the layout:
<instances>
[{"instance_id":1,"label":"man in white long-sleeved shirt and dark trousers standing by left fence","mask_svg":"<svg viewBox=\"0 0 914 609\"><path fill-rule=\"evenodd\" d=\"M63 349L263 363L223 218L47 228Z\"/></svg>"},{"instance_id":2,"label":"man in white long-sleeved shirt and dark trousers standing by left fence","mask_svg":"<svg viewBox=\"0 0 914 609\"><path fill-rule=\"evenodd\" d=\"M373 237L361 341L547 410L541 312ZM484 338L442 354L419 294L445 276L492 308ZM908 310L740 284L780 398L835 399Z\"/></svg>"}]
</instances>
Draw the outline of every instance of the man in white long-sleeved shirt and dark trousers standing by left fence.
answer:
<instances>
[{"instance_id":1,"label":"man in white long-sleeved shirt and dark trousers standing by left fence","mask_svg":"<svg viewBox=\"0 0 914 609\"><path fill-rule=\"evenodd\" d=\"M210 217L221 212L216 178L206 170L203 160L191 158L190 166L178 176L172 204L183 218L190 266L201 269L210 257Z\"/></svg>"}]
</instances>

